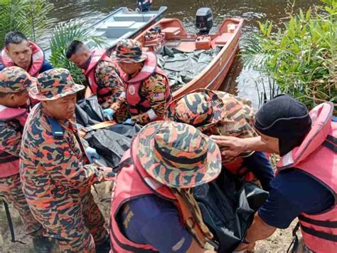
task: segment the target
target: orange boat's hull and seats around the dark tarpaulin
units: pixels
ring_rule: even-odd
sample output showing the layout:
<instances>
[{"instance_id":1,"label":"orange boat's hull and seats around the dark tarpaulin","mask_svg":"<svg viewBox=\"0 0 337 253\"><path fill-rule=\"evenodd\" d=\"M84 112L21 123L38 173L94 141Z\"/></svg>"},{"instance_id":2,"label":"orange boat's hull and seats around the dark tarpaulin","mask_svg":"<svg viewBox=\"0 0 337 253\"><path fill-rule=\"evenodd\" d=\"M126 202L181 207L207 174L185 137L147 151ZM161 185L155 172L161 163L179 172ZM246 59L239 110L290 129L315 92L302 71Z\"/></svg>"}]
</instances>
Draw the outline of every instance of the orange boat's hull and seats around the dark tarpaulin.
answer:
<instances>
[{"instance_id":1,"label":"orange boat's hull and seats around the dark tarpaulin","mask_svg":"<svg viewBox=\"0 0 337 253\"><path fill-rule=\"evenodd\" d=\"M135 37L144 46L144 51L158 51L163 46L178 51L192 53L199 50L209 51L218 48L210 63L196 73L191 81L173 90L173 97L178 98L196 88L218 90L228 73L239 46L243 19L225 19L218 31L209 35L189 34L178 19L161 19ZM159 36L149 36L160 31ZM165 68L164 68L165 70Z\"/></svg>"}]
</instances>

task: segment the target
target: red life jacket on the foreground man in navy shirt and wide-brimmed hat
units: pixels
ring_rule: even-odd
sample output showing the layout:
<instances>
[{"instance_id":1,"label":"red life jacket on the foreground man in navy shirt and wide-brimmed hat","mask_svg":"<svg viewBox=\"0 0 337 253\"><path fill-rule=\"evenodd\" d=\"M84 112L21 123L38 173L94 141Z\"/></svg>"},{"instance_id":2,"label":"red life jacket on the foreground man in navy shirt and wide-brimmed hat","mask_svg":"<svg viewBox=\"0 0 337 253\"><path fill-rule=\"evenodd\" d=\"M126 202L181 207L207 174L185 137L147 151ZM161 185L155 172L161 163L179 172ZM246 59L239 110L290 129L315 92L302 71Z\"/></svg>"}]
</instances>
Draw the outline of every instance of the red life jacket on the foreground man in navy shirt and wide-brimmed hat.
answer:
<instances>
[{"instance_id":1,"label":"red life jacket on the foreground man in navy shirt and wide-brimmed hat","mask_svg":"<svg viewBox=\"0 0 337 253\"><path fill-rule=\"evenodd\" d=\"M110 208L110 241L112 245L112 252L126 253L126 252L158 252L149 244L137 244L127 239L119 227L119 211L121 207L130 200L135 200L145 195L156 195L162 197L164 200L169 200L176 205L180 215L181 224L186 220L193 220L191 212L188 211L187 206L181 205L176 195L172 190L160 182L154 180L141 167L137 155L132 154L130 150L124 154L120 162L121 170L118 172L114 190L112 191L111 208ZM195 223L194 233L198 238L207 241L203 236L198 223Z\"/></svg>"}]
</instances>

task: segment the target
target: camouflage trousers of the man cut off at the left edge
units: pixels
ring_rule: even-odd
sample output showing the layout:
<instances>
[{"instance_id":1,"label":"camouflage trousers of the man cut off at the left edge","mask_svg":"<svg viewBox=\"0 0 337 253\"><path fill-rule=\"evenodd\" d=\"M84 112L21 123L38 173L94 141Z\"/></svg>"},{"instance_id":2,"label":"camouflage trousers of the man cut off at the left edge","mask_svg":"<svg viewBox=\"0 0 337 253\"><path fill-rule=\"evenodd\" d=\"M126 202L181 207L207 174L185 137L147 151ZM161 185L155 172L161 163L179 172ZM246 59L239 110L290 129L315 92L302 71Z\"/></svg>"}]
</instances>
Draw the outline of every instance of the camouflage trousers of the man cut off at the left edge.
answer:
<instances>
[{"instance_id":1,"label":"camouflage trousers of the man cut off at the left edge","mask_svg":"<svg viewBox=\"0 0 337 253\"><path fill-rule=\"evenodd\" d=\"M3 197L7 203L13 204L18 210L27 234L42 228L42 225L33 217L26 197L23 195L19 174L0 178L0 197Z\"/></svg>"}]
</instances>

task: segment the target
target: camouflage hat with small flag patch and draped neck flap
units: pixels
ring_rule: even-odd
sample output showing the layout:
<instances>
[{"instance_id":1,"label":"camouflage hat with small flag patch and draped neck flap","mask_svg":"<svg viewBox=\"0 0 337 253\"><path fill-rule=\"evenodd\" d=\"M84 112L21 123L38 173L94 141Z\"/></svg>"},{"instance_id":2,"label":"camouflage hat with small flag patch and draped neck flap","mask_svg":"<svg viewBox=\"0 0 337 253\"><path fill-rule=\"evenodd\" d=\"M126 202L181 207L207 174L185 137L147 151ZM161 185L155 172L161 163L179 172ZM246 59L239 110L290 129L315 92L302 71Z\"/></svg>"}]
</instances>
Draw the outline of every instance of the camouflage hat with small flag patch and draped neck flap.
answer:
<instances>
[{"instance_id":1,"label":"camouflage hat with small flag patch and draped neck flap","mask_svg":"<svg viewBox=\"0 0 337 253\"><path fill-rule=\"evenodd\" d=\"M216 98L217 101L221 100L221 103L218 102L213 105L213 110L221 110L221 112L214 114L213 111L209 109L211 103L206 102L209 100L210 95L205 95L206 92L209 94L215 94L213 98ZM197 100L196 98L200 100ZM201 109L199 109L199 112L208 113L200 113L199 115L198 111L194 109L193 106L191 106L191 104L193 105L191 100L195 101L195 105L200 106ZM203 100L203 102L201 102L201 100ZM213 113L215 117L213 116L213 118L207 118L205 116L210 115L210 113ZM194 125L206 135L223 135L237 138L250 138L257 136L257 133L253 128L254 115L255 110L253 110L251 107L250 101L246 100L245 98L240 98L223 91L215 91L210 93L208 90L198 89L192 91L183 98L173 100L169 105L165 119ZM238 156L245 158L252 155L253 153L254 151L248 150ZM232 160L235 160L235 158L223 157L224 163L231 162Z\"/></svg>"}]
</instances>

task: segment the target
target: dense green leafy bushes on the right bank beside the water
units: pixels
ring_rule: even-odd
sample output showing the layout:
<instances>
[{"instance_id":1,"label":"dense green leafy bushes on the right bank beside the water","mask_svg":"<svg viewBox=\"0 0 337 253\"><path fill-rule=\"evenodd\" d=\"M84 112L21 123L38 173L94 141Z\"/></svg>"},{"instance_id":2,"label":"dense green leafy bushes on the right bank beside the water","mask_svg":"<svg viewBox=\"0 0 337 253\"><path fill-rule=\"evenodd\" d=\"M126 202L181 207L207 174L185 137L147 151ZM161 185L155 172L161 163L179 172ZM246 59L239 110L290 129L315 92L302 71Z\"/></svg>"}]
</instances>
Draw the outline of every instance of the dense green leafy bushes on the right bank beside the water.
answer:
<instances>
[{"instance_id":1,"label":"dense green leafy bushes on the right bank beside the water","mask_svg":"<svg viewBox=\"0 0 337 253\"><path fill-rule=\"evenodd\" d=\"M305 13L289 14L284 29L272 32L270 21L260 23L243 48L247 68L267 74L284 93L309 108L337 102L337 1L323 0Z\"/></svg>"}]
</instances>

